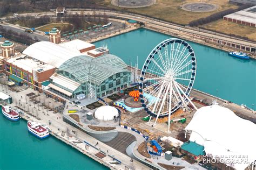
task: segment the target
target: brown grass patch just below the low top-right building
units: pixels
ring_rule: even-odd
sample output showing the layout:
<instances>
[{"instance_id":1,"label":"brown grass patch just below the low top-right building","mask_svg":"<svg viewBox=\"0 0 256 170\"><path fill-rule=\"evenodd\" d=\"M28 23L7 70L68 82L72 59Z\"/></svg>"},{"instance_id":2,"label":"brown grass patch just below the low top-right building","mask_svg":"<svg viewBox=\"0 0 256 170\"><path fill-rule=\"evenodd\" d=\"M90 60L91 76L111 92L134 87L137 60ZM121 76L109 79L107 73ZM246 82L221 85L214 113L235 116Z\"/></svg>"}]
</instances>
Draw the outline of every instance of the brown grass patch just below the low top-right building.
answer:
<instances>
[{"instance_id":1,"label":"brown grass patch just below the low top-right building","mask_svg":"<svg viewBox=\"0 0 256 170\"><path fill-rule=\"evenodd\" d=\"M235 34L237 36L248 37L248 39L256 41L256 27L227 22L223 19L206 24L203 27L226 34Z\"/></svg>"}]
</instances>

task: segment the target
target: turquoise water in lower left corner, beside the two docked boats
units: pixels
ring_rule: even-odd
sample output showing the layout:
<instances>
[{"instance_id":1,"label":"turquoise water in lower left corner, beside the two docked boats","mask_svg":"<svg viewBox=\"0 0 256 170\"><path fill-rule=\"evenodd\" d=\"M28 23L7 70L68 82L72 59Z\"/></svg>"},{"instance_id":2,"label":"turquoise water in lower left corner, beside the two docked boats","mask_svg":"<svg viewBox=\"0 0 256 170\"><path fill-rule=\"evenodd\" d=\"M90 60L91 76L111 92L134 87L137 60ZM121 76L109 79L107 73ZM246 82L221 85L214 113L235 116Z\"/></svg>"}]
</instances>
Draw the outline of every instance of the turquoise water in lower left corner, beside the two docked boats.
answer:
<instances>
[{"instance_id":1,"label":"turquoise water in lower left corner, beside the two docked boats","mask_svg":"<svg viewBox=\"0 0 256 170\"><path fill-rule=\"evenodd\" d=\"M11 122L0 115L0 169L108 169L50 136L38 139L26 121Z\"/></svg>"}]
</instances>

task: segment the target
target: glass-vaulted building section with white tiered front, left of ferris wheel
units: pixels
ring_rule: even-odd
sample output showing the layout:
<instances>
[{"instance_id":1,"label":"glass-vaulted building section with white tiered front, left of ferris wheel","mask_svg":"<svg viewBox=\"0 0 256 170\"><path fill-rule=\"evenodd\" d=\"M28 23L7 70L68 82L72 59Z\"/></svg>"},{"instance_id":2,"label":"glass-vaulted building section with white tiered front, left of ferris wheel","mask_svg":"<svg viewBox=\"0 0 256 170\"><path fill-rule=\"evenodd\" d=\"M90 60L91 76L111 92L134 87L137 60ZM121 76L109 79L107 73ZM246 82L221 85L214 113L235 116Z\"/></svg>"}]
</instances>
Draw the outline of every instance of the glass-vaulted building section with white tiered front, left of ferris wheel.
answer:
<instances>
[{"instance_id":1,"label":"glass-vaulted building section with white tiered front, left of ferris wheel","mask_svg":"<svg viewBox=\"0 0 256 170\"><path fill-rule=\"evenodd\" d=\"M50 77L50 91L65 98L79 94L104 97L129 86L131 73L123 60L112 54L88 55L66 60Z\"/></svg>"}]
</instances>

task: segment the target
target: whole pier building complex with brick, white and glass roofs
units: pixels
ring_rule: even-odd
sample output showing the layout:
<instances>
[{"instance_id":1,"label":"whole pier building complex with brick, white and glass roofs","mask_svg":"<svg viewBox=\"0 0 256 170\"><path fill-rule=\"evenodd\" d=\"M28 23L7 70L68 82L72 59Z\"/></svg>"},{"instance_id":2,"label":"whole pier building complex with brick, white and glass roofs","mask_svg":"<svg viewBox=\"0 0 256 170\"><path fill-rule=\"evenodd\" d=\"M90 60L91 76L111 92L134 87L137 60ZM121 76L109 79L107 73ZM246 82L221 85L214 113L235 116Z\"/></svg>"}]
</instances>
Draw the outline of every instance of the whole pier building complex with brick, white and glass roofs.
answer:
<instances>
[{"instance_id":1,"label":"whole pier building complex with brick, white and glass roofs","mask_svg":"<svg viewBox=\"0 0 256 170\"><path fill-rule=\"evenodd\" d=\"M55 33L52 29L50 42L36 42L4 58L3 75L60 102L80 94L104 97L130 85L127 65L108 49L82 40L60 43Z\"/></svg>"}]
</instances>

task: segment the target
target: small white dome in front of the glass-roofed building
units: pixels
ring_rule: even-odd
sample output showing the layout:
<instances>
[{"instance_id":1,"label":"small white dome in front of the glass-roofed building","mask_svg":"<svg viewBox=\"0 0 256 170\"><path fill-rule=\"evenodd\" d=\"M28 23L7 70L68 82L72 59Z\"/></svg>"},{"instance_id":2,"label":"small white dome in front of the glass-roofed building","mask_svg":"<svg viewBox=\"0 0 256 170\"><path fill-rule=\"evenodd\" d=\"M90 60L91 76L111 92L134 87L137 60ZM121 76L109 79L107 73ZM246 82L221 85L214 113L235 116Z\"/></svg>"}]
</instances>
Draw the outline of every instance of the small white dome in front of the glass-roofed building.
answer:
<instances>
[{"instance_id":1,"label":"small white dome in front of the glass-roofed building","mask_svg":"<svg viewBox=\"0 0 256 170\"><path fill-rule=\"evenodd\" d=\"M109 105L104 105L95 111L95 118L100 121L112 121L118 115L118 110Z\"/></svg>"}]
</instances>

